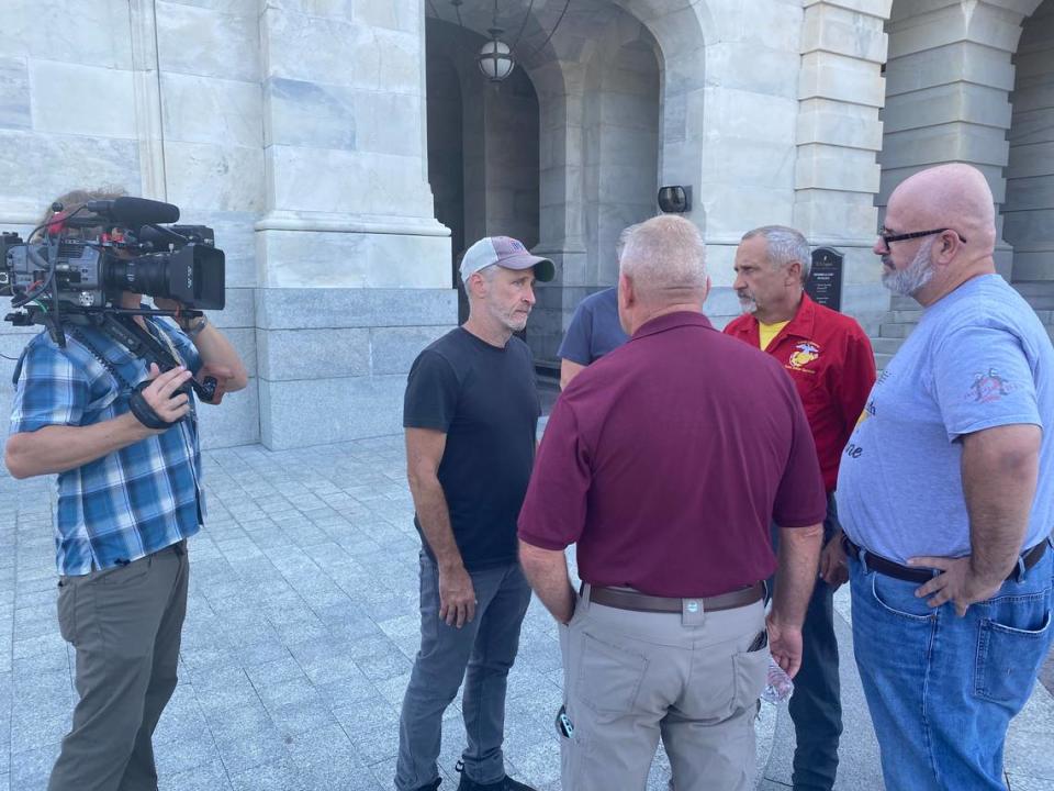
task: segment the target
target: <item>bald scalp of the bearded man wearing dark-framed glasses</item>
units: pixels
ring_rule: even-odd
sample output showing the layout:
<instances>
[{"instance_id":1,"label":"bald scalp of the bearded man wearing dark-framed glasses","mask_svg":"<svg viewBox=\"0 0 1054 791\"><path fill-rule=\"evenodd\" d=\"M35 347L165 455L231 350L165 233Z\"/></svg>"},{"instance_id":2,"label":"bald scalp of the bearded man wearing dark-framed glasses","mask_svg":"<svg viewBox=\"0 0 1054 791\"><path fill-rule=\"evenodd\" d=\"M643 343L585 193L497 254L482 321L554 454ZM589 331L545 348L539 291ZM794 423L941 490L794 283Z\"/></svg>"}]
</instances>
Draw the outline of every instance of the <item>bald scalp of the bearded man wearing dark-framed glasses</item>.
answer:
<instances>
[{"instance_id":1,"label":"bald scalp of the bearded man wearing dark-framed glasses","mask_svg":"<svg viewBox=\"0 0 1054 791\"><path fill-rule=\"evenodd\" d=\"M984 174L954 163L907 178L889 197L886 225L897 232L948 227L977 255L996 246L996 210Z\"/></svg>"}]
</instances>

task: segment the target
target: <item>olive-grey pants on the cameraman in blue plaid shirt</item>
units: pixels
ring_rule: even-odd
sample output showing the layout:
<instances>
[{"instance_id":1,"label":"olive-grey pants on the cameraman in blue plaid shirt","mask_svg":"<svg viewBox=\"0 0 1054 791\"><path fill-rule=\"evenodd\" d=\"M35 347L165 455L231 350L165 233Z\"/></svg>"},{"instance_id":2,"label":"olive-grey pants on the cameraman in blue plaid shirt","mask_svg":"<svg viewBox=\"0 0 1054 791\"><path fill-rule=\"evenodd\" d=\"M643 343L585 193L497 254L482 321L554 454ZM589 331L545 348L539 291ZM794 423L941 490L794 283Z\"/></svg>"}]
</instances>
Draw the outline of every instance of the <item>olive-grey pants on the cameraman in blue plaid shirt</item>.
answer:
<instances>
[{"instance_id":1,"label":"olive-grey pants on the cameraman in blue plaid shirt","mask_svg":"<svg viewBox=\"0 0 1054 791\"><path fill-rule=\"evenodd\" d=\"M154 728L176 689L187 543L63 577L58 627L77 649L72 729L48 791L156 791Z\"/></svg>"}]
</instances>

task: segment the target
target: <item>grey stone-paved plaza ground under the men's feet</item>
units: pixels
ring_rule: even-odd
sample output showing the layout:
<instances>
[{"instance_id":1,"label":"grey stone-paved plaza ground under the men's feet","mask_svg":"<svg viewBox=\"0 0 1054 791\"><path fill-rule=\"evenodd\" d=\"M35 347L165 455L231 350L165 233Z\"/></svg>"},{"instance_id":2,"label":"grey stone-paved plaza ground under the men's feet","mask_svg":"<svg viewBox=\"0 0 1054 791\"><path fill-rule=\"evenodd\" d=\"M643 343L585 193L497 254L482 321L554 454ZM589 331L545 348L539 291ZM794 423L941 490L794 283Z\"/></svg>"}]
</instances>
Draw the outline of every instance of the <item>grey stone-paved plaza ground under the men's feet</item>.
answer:
<instances>
[{"instance_id":1,"label":"grey stone-paved plaza ground under the men's feet","mask_svg":"<svg viewBox=\"0 0 1054 791\"><path fill-rule=\"evenodd\" d=\"M417 548L401 437L205 454L209 520L191 542L181 683L156 737L166 791L389 789L417 646ZM0 790L43 791L75 701L55 619L51 482L0 477ZM877 749L838 598L846 725L839 788L879 789ZM556 627L536 601L509 687L509 771L559 789ZM445 729L457 787L459 711ZM760 788L789 788L785 709L759 721ZM1054 791L1054 698L1014 723L1014 791ZM664 788L660 757L651 789Z\"/></svg>"}]
</instances>

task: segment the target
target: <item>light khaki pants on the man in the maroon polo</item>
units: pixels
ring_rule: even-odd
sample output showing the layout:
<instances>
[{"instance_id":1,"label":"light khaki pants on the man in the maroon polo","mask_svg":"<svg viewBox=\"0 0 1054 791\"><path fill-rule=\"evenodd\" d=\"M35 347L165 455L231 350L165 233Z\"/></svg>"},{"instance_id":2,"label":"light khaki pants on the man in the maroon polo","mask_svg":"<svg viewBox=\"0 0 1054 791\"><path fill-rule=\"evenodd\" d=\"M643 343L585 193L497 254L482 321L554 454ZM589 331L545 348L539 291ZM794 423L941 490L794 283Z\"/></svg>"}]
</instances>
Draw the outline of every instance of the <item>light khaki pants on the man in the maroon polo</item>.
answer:
<instances>
[{"instance_id":1,"label":"light khaki pants on the man in the maroon polo","mask_svg":"<svg viewBox=\"0 0 1054 791\"><path fill-rule=\"evenodd\" d=\"M748 648L765 627L763 603L643 613L590 603L588 592L560 627L563 791L642 790L660 738L677 791L753 789L769 648Z\"/></svg>"}]
</instances>

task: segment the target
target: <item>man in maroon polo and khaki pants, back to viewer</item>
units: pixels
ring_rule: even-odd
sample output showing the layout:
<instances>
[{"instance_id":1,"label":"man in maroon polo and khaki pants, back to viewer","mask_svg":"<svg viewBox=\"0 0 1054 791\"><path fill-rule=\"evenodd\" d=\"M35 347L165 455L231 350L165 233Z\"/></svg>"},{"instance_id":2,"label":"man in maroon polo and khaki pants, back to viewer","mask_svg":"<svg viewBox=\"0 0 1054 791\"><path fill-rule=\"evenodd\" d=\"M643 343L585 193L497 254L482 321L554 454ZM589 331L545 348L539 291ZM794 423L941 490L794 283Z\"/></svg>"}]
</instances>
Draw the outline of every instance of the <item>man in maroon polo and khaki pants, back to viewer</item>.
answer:
<instances>
[{"instance_id":1,"label":"man in maroon polo and khaki pants, back to viewer","mask_svg":"<svg viewBox=\"0 0 1054 791\"><path fill-rule=\"evenodd\" d=\"M782 366L700 314L692 223L630 230L619 267L631 338L561 394L519 515L524 571L563 624L563 789L643 789L660 738L677 791L752 789L769 648L792 675L800 661L826 508L816 446Z\"/></svg>"}]
</instances>

